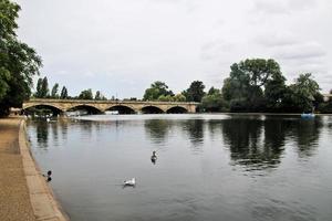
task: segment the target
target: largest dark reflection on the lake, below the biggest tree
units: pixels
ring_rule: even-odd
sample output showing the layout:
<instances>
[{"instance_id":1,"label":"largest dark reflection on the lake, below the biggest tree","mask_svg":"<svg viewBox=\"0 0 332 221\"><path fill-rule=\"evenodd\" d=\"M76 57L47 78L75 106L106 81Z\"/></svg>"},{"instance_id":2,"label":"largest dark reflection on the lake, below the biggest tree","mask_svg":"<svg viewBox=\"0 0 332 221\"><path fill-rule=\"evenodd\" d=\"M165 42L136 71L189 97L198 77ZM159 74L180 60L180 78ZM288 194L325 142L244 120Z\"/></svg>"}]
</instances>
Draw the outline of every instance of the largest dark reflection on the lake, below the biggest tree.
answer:
<instances>
[{"instance_id":1,"label":"largest dark reflection on the lake, below the biggest tree","mask_svg":"<svg viewBox=\"0 0 332 221\"><path fill-rule=\"evenodd\" d=\"M286 136L282 120L269 119L262 122L230 118L224 120L222 124L222 133L225 141L229 145L231 159L256 169L263 169L280 162Z\"/></svg>"}]
</instances>

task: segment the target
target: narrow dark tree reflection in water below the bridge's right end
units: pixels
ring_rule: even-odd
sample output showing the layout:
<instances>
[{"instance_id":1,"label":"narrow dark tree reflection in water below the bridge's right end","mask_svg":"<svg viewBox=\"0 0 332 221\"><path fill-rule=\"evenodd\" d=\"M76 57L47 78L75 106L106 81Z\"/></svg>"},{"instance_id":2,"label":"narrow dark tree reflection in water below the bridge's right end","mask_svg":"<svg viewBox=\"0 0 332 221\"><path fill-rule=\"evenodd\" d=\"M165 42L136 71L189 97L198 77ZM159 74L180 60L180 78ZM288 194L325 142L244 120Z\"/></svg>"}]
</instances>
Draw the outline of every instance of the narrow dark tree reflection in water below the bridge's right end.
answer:
<instances>
[{"instance_id":1,"label":"narrow dark tree reflection in water below the bridge's right end","mask_svg":"<svg viewBox=\"0 0 332 221\"><path fill-rule=\"evenodd\" d=\"M183 128L187 131L189 140L194 146L199 146L204 141L204 120L188 119L184 122Z\"/></svg>"}]
</instances>

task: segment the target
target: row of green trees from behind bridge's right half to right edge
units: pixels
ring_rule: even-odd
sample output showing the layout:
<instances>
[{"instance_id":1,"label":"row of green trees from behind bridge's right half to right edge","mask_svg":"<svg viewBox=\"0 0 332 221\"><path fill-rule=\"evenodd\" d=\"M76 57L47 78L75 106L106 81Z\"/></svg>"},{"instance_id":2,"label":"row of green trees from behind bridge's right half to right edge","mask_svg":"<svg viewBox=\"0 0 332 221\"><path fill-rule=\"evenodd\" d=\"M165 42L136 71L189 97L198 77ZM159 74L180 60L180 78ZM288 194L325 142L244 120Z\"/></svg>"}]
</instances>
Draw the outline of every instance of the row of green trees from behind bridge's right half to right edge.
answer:
<instances>
[{"instance_id":1,"label":"row of green trees from behind bridge's right half to right edge","mask_svg":"<svg viewBox=\"0 0 332 221\"><path fill-rule=\"evenodd\" d=\"M247 59L230 66L220 88L210 87L206 92L203 82L194 81L187 90L174 95L165 83L155 82L145 90L143 99L179 101L180 97L200 103L199 112L332 113L332 99L323 99L311 73L300 74L290 85L286 82L274 60Z\"/></svg>"}]
</instances>

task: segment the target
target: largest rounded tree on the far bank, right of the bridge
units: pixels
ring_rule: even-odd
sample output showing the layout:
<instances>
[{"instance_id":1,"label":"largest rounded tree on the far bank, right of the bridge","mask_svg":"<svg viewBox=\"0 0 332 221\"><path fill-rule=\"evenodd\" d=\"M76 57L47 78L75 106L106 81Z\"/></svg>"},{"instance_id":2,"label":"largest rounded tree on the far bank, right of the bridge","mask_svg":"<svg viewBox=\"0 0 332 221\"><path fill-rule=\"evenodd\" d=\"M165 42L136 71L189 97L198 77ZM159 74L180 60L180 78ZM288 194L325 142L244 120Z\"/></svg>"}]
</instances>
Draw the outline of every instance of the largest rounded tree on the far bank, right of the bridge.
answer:
<instances>
[{"instance_id":1,"label":"largest rounded tree on the far bank, right of the bridge","mask_svg":"<svg viewBox=\"0 0 332 221\"><path fill-rule=\"evenodd\" d=\"M270 106L277 105L274 103L282 94L274 93L273 88L282 86L284 81L280 66L274 60L247 59L230 66L229 77L224 81L224 98L229 102L231 109L264 110L266 98L271 103ZM268 93L268 97L264 96L264 92Z\"/></svg>"}]
</instances>

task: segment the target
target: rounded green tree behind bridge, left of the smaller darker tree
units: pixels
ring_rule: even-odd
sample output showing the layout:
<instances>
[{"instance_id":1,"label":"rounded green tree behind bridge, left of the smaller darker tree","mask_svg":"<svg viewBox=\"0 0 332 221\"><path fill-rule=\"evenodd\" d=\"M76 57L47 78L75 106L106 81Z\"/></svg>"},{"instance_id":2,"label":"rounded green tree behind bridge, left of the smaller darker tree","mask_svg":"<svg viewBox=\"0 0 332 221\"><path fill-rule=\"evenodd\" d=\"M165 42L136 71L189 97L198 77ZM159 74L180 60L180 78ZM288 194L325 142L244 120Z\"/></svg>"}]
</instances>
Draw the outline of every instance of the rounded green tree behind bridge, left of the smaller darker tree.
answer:
<instances>
[{"instance_id":1,"label":"rounded green tree behind bridge, left of the smaller darker tree","mask_svg":"<svg viewBox=\"0 0 332 221\"><path fill-rule=\"evenodd\" d=\"M159 96L174 96L174 93L168 90L168 86L164 82L154 82L149 88L145 90L143 101L157 101Z\"/></svg>"}]
</instances>

